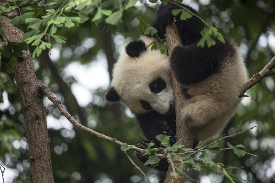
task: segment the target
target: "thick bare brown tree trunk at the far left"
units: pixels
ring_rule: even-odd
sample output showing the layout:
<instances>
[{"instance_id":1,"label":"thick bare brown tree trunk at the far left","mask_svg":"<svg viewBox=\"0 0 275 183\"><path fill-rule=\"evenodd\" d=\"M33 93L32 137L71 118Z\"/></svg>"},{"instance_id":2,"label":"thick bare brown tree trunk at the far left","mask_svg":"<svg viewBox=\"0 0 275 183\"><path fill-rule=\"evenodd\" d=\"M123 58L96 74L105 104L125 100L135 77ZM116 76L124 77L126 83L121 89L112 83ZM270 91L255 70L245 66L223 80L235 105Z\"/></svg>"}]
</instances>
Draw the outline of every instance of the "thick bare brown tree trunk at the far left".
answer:
<instances>
[{"instance_id":1,"label":"thick bare brown tree trunk at the far left","mask_svg":"<svg viewBox=\"0 0 275 183\"><path fill-rule=\"evenodd\" d=\"M17 12L14 11L13 14L17 15ZM24 41L24 32L10 24L9 21L8 18L0 21L2 38L7 38L10 42ZM13 74L25 118L33 182L54 182L46 121L48 110L43 105L43 94L38 90L29 50L23 51L23 56L17 59Z\"/></svg>"}]
</instances>

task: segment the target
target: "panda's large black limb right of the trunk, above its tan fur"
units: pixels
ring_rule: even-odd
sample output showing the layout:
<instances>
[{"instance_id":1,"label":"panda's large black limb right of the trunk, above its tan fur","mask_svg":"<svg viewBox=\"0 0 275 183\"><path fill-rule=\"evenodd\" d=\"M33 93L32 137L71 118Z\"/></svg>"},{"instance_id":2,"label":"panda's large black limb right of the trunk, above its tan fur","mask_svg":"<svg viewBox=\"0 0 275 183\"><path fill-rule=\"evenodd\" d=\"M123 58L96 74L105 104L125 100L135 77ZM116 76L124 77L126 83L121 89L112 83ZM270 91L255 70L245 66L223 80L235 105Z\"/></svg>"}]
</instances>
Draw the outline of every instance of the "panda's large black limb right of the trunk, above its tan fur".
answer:
<instances>
[{"instance_id":1,"label":"panda's large black limb right of the trunk, above its tan fur","mask_svg":"<svg viewBox=\"0 0 275 183\"><path fill-rule=\"evenodd\" d=\"M177 46L171 54L170 65L182 84L197 83L219 69L217 47L198 47L197 44Z\"/></svg>"}]
</instances>

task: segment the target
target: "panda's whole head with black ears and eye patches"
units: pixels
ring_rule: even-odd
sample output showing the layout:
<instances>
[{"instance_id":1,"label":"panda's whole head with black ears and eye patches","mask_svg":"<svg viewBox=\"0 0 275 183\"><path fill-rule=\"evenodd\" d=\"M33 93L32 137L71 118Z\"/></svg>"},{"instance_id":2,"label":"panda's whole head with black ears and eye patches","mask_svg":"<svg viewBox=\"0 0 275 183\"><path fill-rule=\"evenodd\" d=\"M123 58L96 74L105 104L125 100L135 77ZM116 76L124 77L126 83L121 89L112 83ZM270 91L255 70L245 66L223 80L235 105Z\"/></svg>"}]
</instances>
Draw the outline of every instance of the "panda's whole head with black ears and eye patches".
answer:
<instances>
[{"instance_id":1,"label":"panda's whole head with black ears and eye patches","mask_svg":"<svg viewBox=\"0 0 275 183\"><path fill-rule=\"evenodd\" d=\"M126 46L113 69L113 80L106 94L108 101L121 100L136 114L154 110L165 115L173 110L169 59L159 50L147 48L153 41L142 36Z\"/></svg>"}]
</instances>

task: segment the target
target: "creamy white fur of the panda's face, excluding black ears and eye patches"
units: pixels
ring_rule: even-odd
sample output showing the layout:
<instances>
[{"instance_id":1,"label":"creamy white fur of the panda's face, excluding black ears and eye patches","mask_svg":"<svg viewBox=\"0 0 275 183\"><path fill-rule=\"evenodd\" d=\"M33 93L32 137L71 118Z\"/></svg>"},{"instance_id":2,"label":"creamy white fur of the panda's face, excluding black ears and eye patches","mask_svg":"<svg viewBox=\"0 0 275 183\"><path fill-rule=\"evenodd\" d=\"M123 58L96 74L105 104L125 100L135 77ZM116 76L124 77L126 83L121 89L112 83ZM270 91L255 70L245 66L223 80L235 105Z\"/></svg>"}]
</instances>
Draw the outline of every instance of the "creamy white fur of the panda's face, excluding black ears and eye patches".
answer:
<instances>
[{"instance_id":1,"label":"creamy white fur of the panda's face, excluding black ears and eye patches","mask_svg":"<svg viewBox=\"0 0 275 183\"><path fill-rule=\"evenodd\" d=\"M146 36L141 36L140 39L146 45L155 41ZM148 86L159 77L166 81L167 87L155 94ZM160 114L166 114L170 104L174 104L169 59L159 50L151 51L150 47L139 58L132 58L126 53L120 56L113 69L111 87L116 88L121 101L136 114L148 112L143 109L140 100L149 102Z\"/></svg>"}]
</instances>

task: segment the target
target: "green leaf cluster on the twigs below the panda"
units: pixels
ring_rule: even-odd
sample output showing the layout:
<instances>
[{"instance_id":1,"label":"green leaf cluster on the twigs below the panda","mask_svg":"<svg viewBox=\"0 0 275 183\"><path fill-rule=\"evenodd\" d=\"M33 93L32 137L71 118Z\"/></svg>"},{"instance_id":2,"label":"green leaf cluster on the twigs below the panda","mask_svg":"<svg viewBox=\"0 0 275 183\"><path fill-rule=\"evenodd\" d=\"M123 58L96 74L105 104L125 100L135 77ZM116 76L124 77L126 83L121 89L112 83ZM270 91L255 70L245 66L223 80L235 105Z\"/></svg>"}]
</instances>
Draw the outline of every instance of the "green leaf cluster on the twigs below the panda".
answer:
<instances>
[{"instance_id":1,"label":"green leaf cluster on the twigs below the panda","mask_svg":"<svg viewBox=\"0 0 275 183\"><path fill-rule=\"evenodd\" d=\"M183 174L183 168L185 165L187 165L190 169L194 169L199 172L208 171L210 169L211 172L216 172L221 176L226 176L229 178L229 180L240 180L240 178L234 175L229 175L226 171L227 169L233 169L237 167L226 168L223 163L215 162L215 159L212 157L215 157L221 153L222 150L233 150L234 154L236 154L238 157L243 157L245 155L245 147L243 145L238 144L233 146L227 142L229 148L221 149L217 142L205 146L202 142L199 142L198 145L193 149L184 148L181 139L171 146L169 136L160 134L157 135L156 138L160 141L161 147L153 148L155 147L153 142L148 144L147 150L144 154L144 156L148 157L148 160L144 163L144 165L151 165L152 167L155 167L160 163L161 159L170 158L175 166L175 171L171 173L171 176L174 176L176 179L180 177L180 174ZM129 146L125 143L121 146L121 150L127 151L132 147L134 146ZM198 155L199 159L194 160L194 155ZM188 178L191 179L190 177Z\"/></svg>"}]
</instances>

